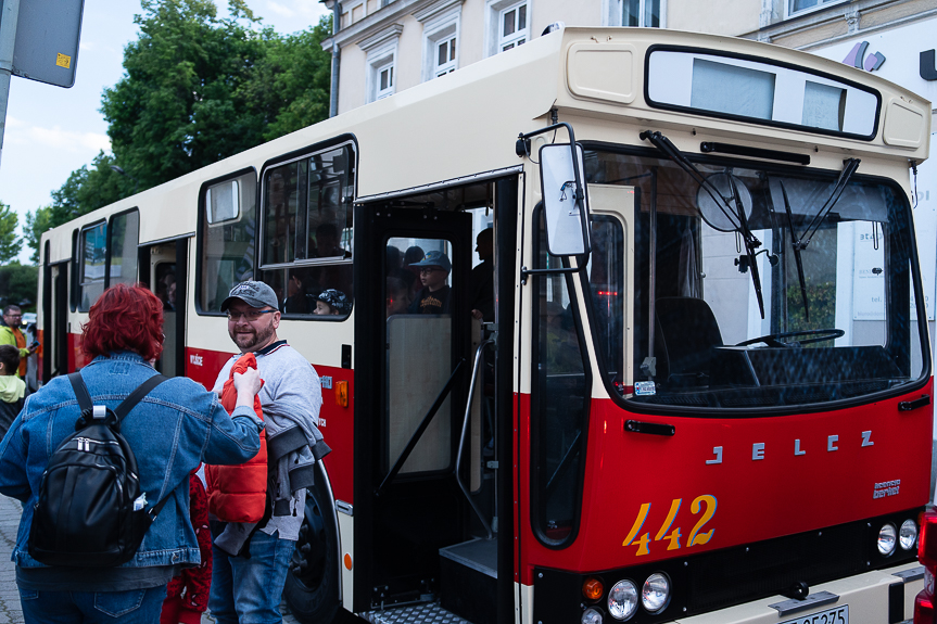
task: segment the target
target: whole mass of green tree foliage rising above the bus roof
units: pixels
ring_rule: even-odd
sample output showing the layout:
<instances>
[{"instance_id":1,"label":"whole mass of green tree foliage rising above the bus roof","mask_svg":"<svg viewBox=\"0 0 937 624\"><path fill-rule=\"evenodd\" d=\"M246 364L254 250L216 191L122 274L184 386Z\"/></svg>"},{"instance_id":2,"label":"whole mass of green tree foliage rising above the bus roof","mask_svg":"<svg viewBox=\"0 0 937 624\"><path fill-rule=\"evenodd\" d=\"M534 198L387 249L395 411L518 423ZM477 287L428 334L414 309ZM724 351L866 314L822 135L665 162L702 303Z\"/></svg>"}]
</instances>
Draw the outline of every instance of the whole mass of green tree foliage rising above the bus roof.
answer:
<instances>
[{"instance_id":1,"label":"whole mass of green tree foliage rising above the bus roof","mask_svg":"<svg viewBox=\"0 0 937 624\"><path fill-rule=\"evenodd\" d=\"M72 171L51 205L27 215L34 262L51 227L328 116L330 56L320 42L330 18L281 35L244 0L228 0L225 17L213 0L141 4L126 73L101 99L112 153Z\"/></svg>"}]
</instances>

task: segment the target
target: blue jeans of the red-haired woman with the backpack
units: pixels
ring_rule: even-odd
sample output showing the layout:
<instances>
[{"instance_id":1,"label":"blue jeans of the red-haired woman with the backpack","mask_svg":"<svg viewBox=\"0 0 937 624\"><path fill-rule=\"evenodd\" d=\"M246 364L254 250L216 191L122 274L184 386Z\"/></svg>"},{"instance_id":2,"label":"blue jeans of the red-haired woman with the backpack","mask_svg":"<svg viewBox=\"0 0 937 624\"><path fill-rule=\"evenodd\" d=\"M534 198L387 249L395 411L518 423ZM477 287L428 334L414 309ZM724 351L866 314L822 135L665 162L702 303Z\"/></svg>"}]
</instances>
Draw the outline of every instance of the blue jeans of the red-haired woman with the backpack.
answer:
<instances>
[{"instance_id":1,"label":"blue jeans of the red-haired woman with the backpack","mask_svg":"<svg viewBox=\"0 0 937 624\"><path fill-rule=\"evenodd\" d=\"M128 591L20 590L26 624L157 624L166 586Z\"/></svg>"}]
</instances>

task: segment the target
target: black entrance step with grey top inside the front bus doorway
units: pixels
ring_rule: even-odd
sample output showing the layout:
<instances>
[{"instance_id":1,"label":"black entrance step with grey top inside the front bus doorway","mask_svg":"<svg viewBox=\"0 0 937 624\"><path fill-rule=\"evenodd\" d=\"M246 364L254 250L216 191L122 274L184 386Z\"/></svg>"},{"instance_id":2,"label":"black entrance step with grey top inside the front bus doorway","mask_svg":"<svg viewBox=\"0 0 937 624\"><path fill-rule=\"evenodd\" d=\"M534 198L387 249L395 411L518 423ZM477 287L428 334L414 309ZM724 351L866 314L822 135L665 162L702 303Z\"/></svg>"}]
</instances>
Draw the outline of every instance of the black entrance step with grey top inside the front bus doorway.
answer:
<instances>
[{"instance_id":1,"label":"black entrance step with grey top inside the front bus doorway","mask_svg":"<svg viewBox=\"0 0 937 624\"><path fill-rule=\"evenodd\" d=\"M474 624L497 621L497 539L440 548L440 602Z\"/></svg>"}]
</instances>

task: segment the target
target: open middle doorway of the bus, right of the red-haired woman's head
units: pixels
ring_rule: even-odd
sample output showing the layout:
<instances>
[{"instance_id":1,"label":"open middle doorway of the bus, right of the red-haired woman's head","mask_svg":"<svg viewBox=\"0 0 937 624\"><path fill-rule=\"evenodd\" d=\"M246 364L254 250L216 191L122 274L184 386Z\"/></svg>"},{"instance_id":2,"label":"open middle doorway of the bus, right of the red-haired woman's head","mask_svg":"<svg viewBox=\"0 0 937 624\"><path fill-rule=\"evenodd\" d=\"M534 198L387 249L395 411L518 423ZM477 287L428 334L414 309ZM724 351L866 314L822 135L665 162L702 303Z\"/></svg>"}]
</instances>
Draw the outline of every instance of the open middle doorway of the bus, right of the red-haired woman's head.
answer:
<instances>
[{"instance_id":1,"label":"open middle doorway of the bus, right of the red-haired woman's head","mask_svg":"<svg viewBox=\"0 0 937 624\"><path fill-rule=\"evenodd\" d=\"M163 302L163 354L156 370L186 374L186 279L189 239L140 247L140 280Z\"/></svg>"}]
</instances>

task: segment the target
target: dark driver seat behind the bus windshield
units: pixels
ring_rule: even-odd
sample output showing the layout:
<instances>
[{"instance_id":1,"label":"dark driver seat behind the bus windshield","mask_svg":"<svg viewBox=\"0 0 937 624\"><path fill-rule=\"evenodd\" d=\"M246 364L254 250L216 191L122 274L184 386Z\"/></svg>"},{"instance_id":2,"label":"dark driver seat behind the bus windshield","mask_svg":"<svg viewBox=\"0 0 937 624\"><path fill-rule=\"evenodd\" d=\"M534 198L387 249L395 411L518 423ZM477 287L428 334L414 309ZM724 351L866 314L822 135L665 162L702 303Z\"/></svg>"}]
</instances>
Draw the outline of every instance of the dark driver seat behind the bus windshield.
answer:
<instances>
[{"instance_id":1,"label":"dark driver seat behind the bus windshield","mask_svg":"<svg viewBox=\"0 0 937 624\"><path fill-rule=\"evenodd\" d=\"M660 297L655 302L655 316L657 348L662 348L667 360L667 384L709 385L713 348L724 344L709 304L696 297Z\"/></svg>"}]
</instances>

